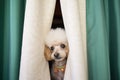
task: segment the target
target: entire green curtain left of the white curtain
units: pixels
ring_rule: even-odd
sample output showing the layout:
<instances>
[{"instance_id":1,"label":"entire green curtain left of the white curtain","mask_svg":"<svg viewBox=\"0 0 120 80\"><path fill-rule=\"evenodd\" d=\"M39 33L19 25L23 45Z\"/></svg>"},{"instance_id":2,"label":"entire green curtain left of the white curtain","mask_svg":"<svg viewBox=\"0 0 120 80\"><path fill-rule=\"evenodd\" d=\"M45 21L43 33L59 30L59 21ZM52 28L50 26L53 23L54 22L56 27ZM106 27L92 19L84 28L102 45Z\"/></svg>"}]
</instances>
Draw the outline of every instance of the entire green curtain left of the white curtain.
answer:
<instances>
[{"instance_id":1,"label":"entire green curtain left of the white curtain","mask_svg":"<svg viewBox=\"0 0 120 80\"><path fill-rule=\"evenodd\" d=\"M0 6L0 80L18 80L25 0L2 0Z\"/></svg>"}]
</instances>

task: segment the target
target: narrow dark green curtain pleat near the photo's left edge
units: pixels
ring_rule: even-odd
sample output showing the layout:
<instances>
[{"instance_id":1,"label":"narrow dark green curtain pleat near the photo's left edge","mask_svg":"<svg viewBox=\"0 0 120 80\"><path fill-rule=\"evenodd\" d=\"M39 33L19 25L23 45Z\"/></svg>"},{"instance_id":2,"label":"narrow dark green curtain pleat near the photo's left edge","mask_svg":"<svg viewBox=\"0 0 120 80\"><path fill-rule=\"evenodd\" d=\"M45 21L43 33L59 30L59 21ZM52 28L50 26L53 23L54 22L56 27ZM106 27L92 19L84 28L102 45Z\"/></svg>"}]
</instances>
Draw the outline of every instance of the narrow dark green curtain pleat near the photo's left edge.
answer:
<instances>
[{"instance_id":1,"label":"narrow dark green curtain pleat near the photo's left edge","mask_svg":"<svg viewBox=\"0 0 120 80\"><path fill-rule=\"evenodd\" d=\"M9 80L9 54L10 54L10 1L4 2L4 26L3 27L3 80Z\"/></svg>"}]
</instances>

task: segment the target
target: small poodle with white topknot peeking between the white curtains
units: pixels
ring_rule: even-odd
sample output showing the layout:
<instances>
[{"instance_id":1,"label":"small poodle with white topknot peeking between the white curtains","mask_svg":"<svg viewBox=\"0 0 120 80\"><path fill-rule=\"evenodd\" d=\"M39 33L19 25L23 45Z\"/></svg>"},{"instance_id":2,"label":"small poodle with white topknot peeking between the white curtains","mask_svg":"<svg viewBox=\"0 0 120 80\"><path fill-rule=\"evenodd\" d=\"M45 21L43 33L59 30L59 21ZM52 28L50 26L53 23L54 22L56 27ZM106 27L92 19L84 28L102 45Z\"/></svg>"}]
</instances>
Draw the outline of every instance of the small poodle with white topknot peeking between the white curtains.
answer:
<instances>
[{"instance_id":1,"label":"small poodle with white topknot peeking between the white curtains","mask_svg":"<svg viewBox=\"0 0 120 80\"><path fill-rule=\"evenodd\" d=\"M51 80L63 80L69 54L68 41L65 30L62 28L51 29L45 39L44 55L51 61Z\"/></svg>"}]
</instances>

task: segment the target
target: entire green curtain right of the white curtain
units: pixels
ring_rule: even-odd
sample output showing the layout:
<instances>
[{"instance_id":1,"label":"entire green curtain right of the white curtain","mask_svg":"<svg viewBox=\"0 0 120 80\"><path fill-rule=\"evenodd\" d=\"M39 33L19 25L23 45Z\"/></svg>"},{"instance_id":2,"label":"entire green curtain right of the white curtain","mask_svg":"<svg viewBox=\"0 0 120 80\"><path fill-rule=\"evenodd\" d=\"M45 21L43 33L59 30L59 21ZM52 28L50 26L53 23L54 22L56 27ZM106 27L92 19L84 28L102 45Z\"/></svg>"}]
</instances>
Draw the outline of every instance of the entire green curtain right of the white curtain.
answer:
<instances>
[{"instance_id":1,"label":"entire green curtain right of the white curtain","mask_svg":"<svg viewBox=\"0 0 120 80\"><path fill-rule=\"evenodd\" d=\"M120 80L120 1L86 2L89 80Z\"/></svg>"}]
</instances>

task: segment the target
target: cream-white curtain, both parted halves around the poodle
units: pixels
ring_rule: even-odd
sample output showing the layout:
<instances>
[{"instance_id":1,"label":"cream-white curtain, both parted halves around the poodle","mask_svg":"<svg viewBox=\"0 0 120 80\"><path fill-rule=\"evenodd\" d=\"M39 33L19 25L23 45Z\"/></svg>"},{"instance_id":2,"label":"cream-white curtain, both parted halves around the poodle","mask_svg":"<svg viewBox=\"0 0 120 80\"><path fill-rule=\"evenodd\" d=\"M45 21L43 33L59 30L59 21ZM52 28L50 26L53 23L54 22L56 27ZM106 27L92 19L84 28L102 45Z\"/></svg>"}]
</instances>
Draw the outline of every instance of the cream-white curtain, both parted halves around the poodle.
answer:
<instances>
[{"instance_id":1,"label":"cream-white curtain, both parted halves around the poodle","mask_svg":"<svg viewBox=\"0 0 120 80\"><path fill-rule=\"evenodd\" d=\"M56 0L27 0L19 80L50 80L44 37ZM61 0L70 53L64 80L87 80L85 0Z\"/></svg>"}]
</instances>

